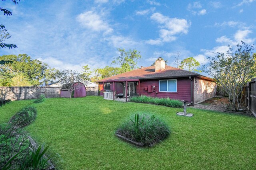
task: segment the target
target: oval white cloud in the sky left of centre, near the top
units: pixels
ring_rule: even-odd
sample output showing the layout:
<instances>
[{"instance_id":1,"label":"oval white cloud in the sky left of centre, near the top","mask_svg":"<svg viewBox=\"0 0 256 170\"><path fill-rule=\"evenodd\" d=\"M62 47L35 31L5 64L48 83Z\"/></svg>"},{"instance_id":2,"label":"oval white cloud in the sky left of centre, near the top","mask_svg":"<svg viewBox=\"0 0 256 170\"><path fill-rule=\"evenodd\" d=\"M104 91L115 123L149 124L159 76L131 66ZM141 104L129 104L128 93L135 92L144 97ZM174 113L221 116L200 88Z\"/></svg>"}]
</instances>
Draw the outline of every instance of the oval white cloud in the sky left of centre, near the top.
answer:
<instances>
[{"instance_id":1,"label":"oval white cloud in the sky left of centre, near the top","mask_svg":"<svg viewBox=\"0 0 256 170\"><path fill-rule=\"evenodd\" d=\"M101 16L93 11L87 11L79 14L76 20L84 27L92 31L104 31L105 34L112 33L113 29L108 22L102 20Z\"/></svg>"}]
</instances>

